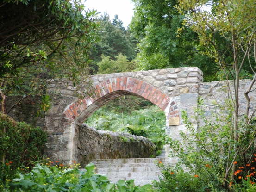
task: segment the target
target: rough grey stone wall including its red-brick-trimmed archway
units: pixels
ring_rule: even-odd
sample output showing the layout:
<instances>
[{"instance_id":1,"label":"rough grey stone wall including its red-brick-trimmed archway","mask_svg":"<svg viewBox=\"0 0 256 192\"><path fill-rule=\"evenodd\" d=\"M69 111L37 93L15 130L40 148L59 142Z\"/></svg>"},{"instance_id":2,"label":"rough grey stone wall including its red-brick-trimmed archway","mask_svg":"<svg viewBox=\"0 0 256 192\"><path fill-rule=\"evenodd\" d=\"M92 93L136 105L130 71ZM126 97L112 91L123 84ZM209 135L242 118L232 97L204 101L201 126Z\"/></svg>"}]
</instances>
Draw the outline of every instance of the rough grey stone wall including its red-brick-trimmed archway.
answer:
<instances>
[{"instance_id":1,"label":"rough grey stone wall including its red-brick-trimmed archway","mask_svg":"<svg viewBox=\"0 0 256 192\"><path fill-rule=\"evenodd\" d=\"M166 133L175 139L179 139L180 130L186 132L181 111L192 116L199 96L206 100L209 114L218 110L213 100L221 104L226 99L225 81L203 83L203 73L197 67L100 74L91 76L91 80L95 96L84 99L75 97L74 87L66 80L51 81L48 86L52 107L45 116L44 126L49 134L46 155L53 160L81 161L79 148L83 143L79 141L78 127L102 105L122 95L142 97L161 108L166 116ZM242 104L245 103L242 93L248 83L250 80L241 80ZM255 106L255 91L250 98ZM197 126L197 122L193 123Z\"/></svg>"}]
</instances>

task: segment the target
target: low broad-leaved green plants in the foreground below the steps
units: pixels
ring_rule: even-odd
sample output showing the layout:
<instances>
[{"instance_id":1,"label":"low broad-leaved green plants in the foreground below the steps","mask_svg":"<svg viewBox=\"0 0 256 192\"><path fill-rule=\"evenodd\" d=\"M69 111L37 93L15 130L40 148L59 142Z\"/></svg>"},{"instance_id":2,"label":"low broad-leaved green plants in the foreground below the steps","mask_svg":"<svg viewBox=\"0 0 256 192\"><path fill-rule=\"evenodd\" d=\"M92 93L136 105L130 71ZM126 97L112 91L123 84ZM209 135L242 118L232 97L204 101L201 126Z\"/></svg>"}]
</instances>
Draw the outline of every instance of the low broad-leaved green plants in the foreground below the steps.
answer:
<instances>
[{"instance_id":1,"label":"low broad-leaved green plants in the foreground below the steps","mask_svg":"<svg viewBox=\"0 0 256 192\"><path fill-rule=\"evenodd\" d=\"M37 164L30 173L17 173L9 186L12 192L147 192L151 188L150 185L135 186L133 180L113 184L106 176L94 173L93 163L85 168L86 171L81 171L78 167Z\"/></svg>"}]
</instances>

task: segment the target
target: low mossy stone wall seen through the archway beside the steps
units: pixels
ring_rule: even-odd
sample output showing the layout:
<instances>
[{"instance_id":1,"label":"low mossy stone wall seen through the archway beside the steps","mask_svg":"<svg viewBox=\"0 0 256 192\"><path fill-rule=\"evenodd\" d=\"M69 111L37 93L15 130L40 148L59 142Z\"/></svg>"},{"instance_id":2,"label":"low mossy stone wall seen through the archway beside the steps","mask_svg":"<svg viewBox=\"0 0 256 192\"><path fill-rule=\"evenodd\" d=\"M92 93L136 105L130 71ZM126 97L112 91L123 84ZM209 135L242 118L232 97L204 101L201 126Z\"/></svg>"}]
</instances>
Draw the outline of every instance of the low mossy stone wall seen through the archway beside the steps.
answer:
<instances>
[{"instance_id":1,"label":"low mossy stone wall seen through the archway beside the steps","mask_svg":"<svg viewBox=\"0 0 256 192\"><path fill-rule=\"evenodd\" d=\"M78 131L77 155L82 166L92 159L147 158L155 155L156 146L142 136L96 130L86 124L78 126Z\"/></svg>"}]
</instances>

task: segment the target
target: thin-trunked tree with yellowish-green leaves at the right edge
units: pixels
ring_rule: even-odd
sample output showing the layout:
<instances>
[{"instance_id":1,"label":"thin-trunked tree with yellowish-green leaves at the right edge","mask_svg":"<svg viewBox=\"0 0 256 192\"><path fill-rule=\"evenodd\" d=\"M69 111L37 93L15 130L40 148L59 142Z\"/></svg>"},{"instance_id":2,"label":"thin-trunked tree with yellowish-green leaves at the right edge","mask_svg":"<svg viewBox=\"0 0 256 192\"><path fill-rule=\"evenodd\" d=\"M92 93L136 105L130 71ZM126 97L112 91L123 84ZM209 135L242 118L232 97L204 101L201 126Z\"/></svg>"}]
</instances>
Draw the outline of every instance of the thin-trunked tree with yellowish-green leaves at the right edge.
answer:
<instances>
[{"instance_id":1,"label":"thin-trunked tree with yellowish-green leaves at the right edge","mask_svg":"<svg viewBox=\"0 0 256 192\"><path fill-rule=\"evenodd\" d=\"M249 109L250 93L255 83L256 71L256 1L255 0L179 0L176 6L180 14L186 15L184 26L190 27L199 36L200 45L206 49L204 54L211 57L220 69L225 72L226 79L231 76L234 84L234 94L230 95L231 104L234 106L233 127L230 130L229 154L225 159L225 180L233 180L235 161L241 156L241 161L248 164L252 161L251 155L255 152L252 145L254 139L249 140L245 146L239 145L244 142L243 127L239 126L241 118L239 111L239 77L246 62L249 63L253 73L253 80L245 92L247 98L246 124L251 124L251 119L256 111ZM219 44L217 35L227 43ZM220 47L223 46L223 47ZM230 51L232 55L226 58L222 50ZM227 81L228 87L229 81ZM245 130L246 134L247 130ZM241 147L243 146L243 147ZM248 155L247 155L248 154Z\"/></svg>"}]
</instances>

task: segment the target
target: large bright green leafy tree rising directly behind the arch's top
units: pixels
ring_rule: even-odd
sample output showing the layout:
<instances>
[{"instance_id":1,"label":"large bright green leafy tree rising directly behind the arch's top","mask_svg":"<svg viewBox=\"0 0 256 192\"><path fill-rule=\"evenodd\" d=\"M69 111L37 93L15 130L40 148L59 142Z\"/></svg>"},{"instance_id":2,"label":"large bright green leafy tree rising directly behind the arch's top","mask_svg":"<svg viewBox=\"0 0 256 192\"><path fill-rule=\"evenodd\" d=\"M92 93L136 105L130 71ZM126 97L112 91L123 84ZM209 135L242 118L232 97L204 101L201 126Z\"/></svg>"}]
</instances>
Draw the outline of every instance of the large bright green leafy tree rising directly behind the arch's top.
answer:
<instances>
[{"instance_id":1,"label":"large bright green leafy tree rising directly behind the arch's top","mask_svg":"<svg viewBox=\"0 0 256 192\"><path fill-rule=\"evenodd\" d=\"M205 81L218 79L218 65L211 57L201 54L205 47L198 34L182 25L185 15L175 9L178 0L133 0L135 13L130 24L138 39L138 68L150 70L197 66L204 72ZM219 36L219 43L225 38ZM228 57L224 47L219 47Z\"/></svg>"}]
</instances>

